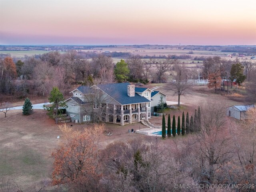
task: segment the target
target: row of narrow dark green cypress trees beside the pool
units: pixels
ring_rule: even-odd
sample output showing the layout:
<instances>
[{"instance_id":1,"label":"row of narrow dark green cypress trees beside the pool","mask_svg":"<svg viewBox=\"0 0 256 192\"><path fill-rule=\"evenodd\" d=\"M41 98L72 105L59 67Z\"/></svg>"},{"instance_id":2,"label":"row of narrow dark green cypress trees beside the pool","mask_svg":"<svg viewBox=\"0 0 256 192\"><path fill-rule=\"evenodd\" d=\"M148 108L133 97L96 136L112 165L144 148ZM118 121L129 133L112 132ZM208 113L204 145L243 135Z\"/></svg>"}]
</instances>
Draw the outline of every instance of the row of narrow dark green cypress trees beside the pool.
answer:
<instances>
[{"instance_id":1,"label":"row of narrow dark green cypress trees beside the pool","mask_svg":"<svg viewBox=\"0 0 256 192\"><path fill-rule=\"evenodd\" d=\"M176 119L175 115L172 117L172 128L171 128L171 118L170 114L168 115L167 120L167 137L170 138L171 136L177 135L185 135L190 132L199 132L201 130L201 110L198 106L198 111L195 110L194 118L191 116L189 120L188 112L186 114L186 122L185 122L185 115L184 112L182 113L182 121L180 126L180 116L178 116L178 123L177 123L177 130L176 130ZM162 138L166 138L166 123L165 117L163 115L162 118Z\"/></svg>"}]
</instances>

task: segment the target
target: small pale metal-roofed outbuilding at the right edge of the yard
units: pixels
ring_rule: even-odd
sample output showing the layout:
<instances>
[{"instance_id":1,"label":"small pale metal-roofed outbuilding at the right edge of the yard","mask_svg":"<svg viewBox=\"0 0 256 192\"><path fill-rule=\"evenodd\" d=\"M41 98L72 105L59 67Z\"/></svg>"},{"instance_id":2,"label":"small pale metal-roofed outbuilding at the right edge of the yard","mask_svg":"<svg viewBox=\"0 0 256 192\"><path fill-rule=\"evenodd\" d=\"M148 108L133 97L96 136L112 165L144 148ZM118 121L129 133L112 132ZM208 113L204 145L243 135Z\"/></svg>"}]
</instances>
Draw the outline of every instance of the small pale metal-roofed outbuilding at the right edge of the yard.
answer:
<instances>
[{"instance_id":1,"label":"small pale metal-roofed outbuilding at the right edge of the yard","mask_svg":"<svg viewBox=\"0 0 256 192\"><path fill-rule=\"evenodd\" d=\"M241 105L227 107L227 116L234 117L236 119L246 119L246 111L254 107L253 105Z\"/></svg>"}]
</instances>

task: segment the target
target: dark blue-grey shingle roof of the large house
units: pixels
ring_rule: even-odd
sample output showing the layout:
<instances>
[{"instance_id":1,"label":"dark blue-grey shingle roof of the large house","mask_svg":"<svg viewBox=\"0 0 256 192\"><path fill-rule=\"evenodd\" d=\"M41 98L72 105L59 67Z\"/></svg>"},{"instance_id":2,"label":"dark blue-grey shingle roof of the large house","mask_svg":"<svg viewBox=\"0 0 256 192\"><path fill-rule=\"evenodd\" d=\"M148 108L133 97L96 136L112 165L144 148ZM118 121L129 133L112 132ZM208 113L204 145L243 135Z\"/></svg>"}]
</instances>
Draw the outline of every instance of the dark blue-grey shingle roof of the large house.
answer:
<instances>
[{"instance_id":1,"label":"dark blue-grey shingle roof of the large house","mask_svg":"<svg viewBox=\"0 0 256 192\"><path fill-rule=\"evenodd\" d=\"M140 96L137 93L135 93L134 97L129 97L127 95L128 85L130 85L130 83L113 83L113 84L100 84L100 85L97 85L97 87L100 88L102 91L104 91L106 94L108 94L110 97L112 97L114 100L116 100L118 103L122 105L150 102L150 100L148 100L143 96ZM77 90L79 90L83 94L92 93L90 89L91 88L88 86L80 86L77 88ZM144 88L144 89L146 90L147 88Z\"/></svg>"}]
</instances>

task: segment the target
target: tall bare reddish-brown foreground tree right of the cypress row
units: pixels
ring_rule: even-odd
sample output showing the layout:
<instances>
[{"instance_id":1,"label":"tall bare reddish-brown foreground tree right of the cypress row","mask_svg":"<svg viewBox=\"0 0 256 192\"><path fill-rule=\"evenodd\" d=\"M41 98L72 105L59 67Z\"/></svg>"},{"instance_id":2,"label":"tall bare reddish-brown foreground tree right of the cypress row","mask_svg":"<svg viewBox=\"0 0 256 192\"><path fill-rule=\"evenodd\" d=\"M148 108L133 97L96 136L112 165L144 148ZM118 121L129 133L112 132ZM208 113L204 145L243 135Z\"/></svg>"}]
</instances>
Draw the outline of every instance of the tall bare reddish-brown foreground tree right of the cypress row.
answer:
<instances>
[{"instance_id":1,"label":"tall bare reddish-brown foreground tree right of the cypress row","mask_svg":"<svg viewBox=\"0 0 256 192\"><path fill-rule=\"evenodd\" d=\"M225 113L222 103L208 101L202 106L202 129L196 134L202 183L213 183L216 171L229 162L234 153L226 129Z\"/></svg>"}]
</instances>

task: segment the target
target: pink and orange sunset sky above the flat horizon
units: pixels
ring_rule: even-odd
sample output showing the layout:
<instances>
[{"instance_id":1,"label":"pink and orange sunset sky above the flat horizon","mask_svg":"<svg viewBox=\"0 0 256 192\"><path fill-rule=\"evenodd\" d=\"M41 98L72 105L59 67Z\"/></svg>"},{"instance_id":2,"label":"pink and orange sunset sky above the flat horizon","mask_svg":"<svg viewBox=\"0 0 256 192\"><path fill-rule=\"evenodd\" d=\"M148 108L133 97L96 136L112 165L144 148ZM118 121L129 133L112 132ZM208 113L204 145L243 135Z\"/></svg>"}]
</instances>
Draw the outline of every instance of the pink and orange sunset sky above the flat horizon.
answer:
<instances>
[{"instance_id":1,"label":"pink and orange sunset sky above the flat horizon","mask_svg":"<svg viewBox=\"0 0 256 192\"><path fill-rule=\"evenodd\" d=\"M256 0L0 0L0 44L256 45Z\"/></svg>"}]
</instances>

